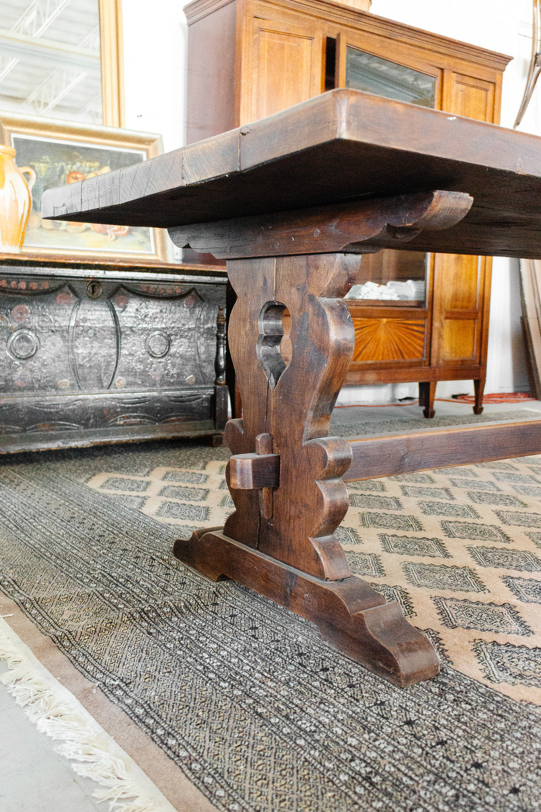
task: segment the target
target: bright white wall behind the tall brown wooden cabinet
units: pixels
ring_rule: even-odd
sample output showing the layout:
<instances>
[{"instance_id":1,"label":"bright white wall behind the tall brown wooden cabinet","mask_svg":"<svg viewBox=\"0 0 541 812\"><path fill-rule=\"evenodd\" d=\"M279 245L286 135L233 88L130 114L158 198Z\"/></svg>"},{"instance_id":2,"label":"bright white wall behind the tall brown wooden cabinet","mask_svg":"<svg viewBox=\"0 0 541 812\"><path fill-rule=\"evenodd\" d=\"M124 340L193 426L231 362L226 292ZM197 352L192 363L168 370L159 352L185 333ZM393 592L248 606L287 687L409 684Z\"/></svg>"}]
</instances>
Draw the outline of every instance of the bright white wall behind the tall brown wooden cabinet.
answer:
<instances>
[{"instance_id":1,"label":"bright white wall behind the tall brown wooden cabinet","mask_svg":"<svg viewBox=\"0 0 541 812\"><path fill-rule=\"evenodd\" d=\"M187 25L182 0L123 0L126 126L160 132L165 151L185 143ZM512 127L531 50L531 0L372 0L371 12L513 56L505 70L501 123ZM519 127L541 135L541 83ZM527 389L517 261L497 258L487 362L487 392ZM437 397L473 392L470 381L440 382ZM348 387L342 402L417 395L414 384Z\"/></svg>"}]
</instances>

